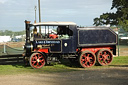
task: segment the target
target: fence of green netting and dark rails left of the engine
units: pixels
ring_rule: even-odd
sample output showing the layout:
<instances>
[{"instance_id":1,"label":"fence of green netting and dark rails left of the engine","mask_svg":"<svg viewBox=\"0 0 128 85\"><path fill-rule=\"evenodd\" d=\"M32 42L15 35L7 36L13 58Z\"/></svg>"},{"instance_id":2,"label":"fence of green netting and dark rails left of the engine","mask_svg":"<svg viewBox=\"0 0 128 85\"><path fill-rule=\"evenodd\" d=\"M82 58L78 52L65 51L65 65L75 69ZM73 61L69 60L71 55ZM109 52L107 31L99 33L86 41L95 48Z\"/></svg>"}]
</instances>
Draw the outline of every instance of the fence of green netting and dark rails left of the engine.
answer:
<instances>
[{"instance_id":1,"label":"fence of green netting and dark rails left of the engine","mask_svg":"<svg viewBox=\"0 0 128 85\"><path fill-rule=\"evenodd\" d=\"M0 45L0 64L23 63L21 48L11 48L7 45Z\"/></svg>"}]
</instances>

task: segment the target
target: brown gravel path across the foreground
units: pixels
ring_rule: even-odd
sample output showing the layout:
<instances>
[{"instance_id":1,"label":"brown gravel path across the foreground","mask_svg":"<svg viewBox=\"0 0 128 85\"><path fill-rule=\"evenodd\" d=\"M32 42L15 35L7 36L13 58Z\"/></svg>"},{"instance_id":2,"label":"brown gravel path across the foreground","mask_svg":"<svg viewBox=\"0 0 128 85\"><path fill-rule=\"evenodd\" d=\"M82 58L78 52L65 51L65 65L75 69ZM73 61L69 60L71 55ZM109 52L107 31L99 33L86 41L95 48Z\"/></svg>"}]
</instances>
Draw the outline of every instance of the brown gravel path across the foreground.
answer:
<instances>
[{"instance_id":1,"label":"brown gravel path across the foreground","mask_svg":"<svg viewBox=\"0 0 128 85\"><path fill-rule=\"evenodd\" d=\"M0 76L0 85L128 85L128 66L65 73Z\"/></svg>"}]
</instances>

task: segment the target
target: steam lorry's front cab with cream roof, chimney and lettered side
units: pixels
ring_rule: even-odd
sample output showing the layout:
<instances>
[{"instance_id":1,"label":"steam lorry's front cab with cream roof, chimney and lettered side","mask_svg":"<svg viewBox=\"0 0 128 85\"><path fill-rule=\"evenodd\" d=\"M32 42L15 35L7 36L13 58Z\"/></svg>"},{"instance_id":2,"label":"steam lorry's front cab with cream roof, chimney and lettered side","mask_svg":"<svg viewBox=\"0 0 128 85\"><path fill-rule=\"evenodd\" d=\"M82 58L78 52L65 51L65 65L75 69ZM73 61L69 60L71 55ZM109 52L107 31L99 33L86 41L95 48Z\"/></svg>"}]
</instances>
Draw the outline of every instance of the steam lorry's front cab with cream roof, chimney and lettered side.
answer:
<instances>
[{"instance_id":1,"label":"steam lorry's front cab with cream roof, chimney and lettered side","mask_svg":"<svg viewBox=\"0 0 128 85\"><path fill-rule=\"evenodd\" d=\"M26 23L25 56L33 53L67 54L75 53L77 49L76 23L73 22L43 22ZM39 32L40 30L40 32Z\"/></svg>"}]
</instances>

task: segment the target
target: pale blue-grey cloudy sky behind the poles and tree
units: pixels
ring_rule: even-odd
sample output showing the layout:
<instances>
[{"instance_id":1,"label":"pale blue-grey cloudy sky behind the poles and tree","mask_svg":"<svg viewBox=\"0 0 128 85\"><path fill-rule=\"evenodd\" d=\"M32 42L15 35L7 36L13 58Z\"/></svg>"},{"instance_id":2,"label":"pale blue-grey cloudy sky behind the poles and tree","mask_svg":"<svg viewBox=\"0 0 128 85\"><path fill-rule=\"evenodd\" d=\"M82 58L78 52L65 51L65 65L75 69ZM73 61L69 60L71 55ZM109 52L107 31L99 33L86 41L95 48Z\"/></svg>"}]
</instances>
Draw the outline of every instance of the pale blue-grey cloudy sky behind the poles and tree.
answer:
<instances>
[{"instance_id":1,"label":"pale blue-grey cloudy sky behind the poles and tree","mask_svg":"<svg viewBox=\"0 0 128 85\"><path fill-rule=\"evenodd\" d=\"M75 22L78 26L93 26L93 19L110 10L112 0L40 0L41 21ZM38 0L0 0L0 30L25 30L25 20L34 23Z\"/></svg>"}]
</instances>

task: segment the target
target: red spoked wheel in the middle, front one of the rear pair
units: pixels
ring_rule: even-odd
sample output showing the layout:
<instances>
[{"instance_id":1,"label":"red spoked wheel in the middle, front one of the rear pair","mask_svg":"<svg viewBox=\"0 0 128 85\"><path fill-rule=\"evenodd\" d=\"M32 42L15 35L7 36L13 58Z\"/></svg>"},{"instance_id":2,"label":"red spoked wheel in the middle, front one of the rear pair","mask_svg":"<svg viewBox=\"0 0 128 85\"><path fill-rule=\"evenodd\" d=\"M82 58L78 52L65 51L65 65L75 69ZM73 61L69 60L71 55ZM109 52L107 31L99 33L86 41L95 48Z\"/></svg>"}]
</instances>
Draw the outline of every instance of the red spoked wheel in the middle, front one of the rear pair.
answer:
<instances>
[{"instance_id":1,"label":"red spoked wheel in the middle, front one of the rear pair","mask_svg":"<svg viewBox=\"0 0 128 85\"><path fill-rule=\"evenodd\" d=\"M80 65L82 67L91 67L95 65L96 56L91 51L84 51L79 58Z\"/></svg>"}]
</instances>

